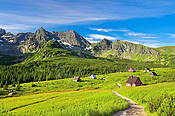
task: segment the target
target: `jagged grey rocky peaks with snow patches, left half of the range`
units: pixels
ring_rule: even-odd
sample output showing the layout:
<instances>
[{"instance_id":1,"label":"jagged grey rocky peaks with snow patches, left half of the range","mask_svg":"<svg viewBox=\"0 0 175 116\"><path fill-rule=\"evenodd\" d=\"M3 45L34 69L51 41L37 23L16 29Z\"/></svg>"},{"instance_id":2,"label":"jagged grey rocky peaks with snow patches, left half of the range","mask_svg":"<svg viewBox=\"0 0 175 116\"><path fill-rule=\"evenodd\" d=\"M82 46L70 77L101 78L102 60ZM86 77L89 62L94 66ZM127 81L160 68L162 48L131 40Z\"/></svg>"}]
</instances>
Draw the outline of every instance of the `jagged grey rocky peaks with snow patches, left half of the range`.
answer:
<instances>
[{"instance_id":1,"label":"jagged grey rocky peaks with snow patches, left half of the range","mask_svg":"<svg viewBox=\"0 0 175 116\"><path fill-rule=\"evenodd\" d=\"M50 41L57 40L66 49L84 50L90 46L90 43L75 31L66 32L48 32L44 28L38 29L35 33L12 33L0 29L0 54L20 55L39 50L43 45Z\"/></svg>"}]
</instances>

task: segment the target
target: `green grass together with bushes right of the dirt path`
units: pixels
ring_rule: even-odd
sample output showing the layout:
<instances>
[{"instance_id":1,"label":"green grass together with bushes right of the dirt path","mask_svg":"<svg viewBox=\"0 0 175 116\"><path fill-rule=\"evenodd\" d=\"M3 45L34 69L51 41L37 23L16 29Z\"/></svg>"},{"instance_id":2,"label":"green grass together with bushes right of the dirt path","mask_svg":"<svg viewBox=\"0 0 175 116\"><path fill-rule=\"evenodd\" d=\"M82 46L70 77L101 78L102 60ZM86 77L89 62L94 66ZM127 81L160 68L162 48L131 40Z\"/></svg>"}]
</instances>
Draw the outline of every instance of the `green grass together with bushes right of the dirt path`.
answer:
<instances>
[{"instance_id":1,"label":"green grass together with bushes right of the dirt path","mask_svg":"<svg viewBox=\"0 0 175 116\"><path fill-rule=\"evenodd\" d=\"M117 92L143 105L147 112L154 113L150 115L175 115L175 82L123 87Z\"/></svg>"}]
</instances>

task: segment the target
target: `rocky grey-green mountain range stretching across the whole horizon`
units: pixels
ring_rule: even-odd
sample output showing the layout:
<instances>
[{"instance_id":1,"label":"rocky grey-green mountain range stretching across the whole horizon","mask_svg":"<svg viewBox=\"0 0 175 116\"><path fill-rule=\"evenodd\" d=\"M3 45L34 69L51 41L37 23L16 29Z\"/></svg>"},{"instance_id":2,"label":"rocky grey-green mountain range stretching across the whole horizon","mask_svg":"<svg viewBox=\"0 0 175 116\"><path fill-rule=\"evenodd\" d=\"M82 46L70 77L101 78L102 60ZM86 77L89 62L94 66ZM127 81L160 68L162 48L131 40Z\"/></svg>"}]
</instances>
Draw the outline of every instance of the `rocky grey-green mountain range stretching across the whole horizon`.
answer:
<instances>
[{"instance_id":1,"label":"rocky grey-green mountain range stretching across the whole horizon","mask_svg":"<svg viewBox=\"0 0 175 116\"><path fill-rule=\"evenodd\" d=\"M90 43L77 32L58 31L49 32L44 28L35 33L26 32L16 35L0 29L0 54L10 56L22 56L26 53L36 53L49 41L59 44L58 46L67 51L79 51L79 53L92 57L120 58L139 61L161 61L162 57L174 55L175 47L150 48L127 41L110 41L102 39L97 43ZM171 48L171 50L169 50ZM171 53L167 53L167 51ZM174 57L173 57L174 58Z\"/></svg>"}]
</instances>

